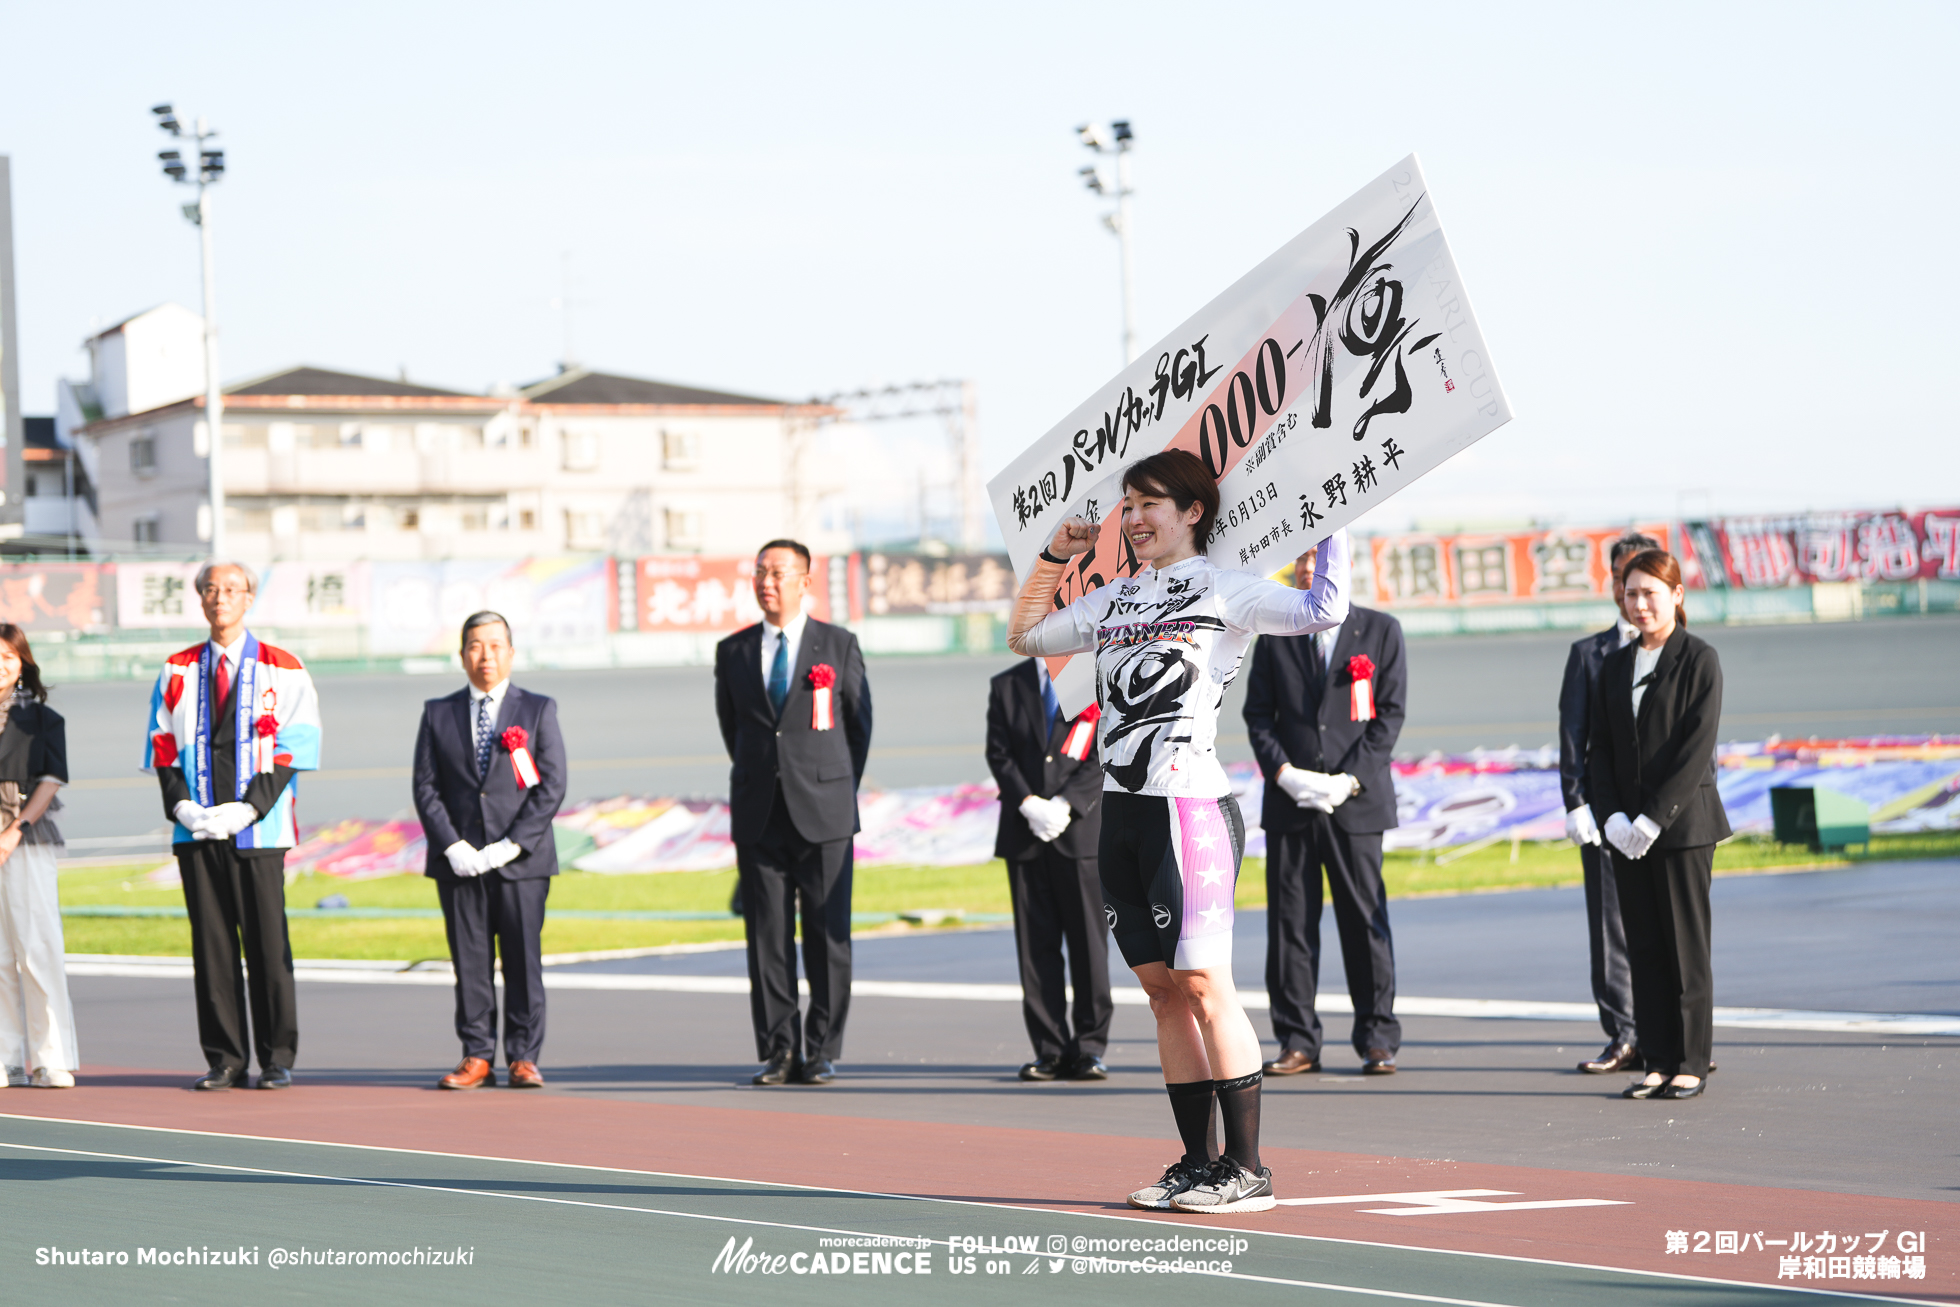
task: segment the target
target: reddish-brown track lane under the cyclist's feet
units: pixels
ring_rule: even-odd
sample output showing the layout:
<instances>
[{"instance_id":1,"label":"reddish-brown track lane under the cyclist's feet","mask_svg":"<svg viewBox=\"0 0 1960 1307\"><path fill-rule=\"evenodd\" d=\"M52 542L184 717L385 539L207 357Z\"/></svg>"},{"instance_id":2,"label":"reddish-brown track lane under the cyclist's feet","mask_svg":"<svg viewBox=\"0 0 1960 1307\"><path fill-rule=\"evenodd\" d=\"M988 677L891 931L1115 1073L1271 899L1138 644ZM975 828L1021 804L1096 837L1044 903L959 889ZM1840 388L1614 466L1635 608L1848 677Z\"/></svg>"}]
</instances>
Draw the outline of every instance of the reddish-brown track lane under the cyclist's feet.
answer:
<instances>
[{"instance_id":1,"label":"reddish-brown track lane under the cyclist's feet","mask_svg":"<svg viewBox=\"0 0 1960 1307\"><path fill-rule=\"evenodd\" d=\"M815 1113L619 1103L564 1093L433 1088L304 1086L284 1093L192 1093L180 1072L88 1068L76 1091L12 1089L0 1113L180 1131L214 1131L380 1148L459 1152L770 1184L907 1193L964 1203L1125 1215L1139 1221L1446 1248L1625 1270L1778 1283L1778 1250L1666 1252L1666 1231L1925 1233L1927 1278L1809 1280L1813 1289L1960 1301L1960 1205L1925 1199L1703 1184L1652 1176L1378 1158L1301 1148L1266 1150L1282 1199L1313 1195L1501 1189L1490 1201L1617 1199L1631 1207L1564 1207L1441 1215L1366 1215L1354 1203L1280 1207L1205 1223L1139 1213L1111 1201L1172 1158L1158 1138L1064 1135L980 1125L872 1121ZM821 1089L759 1089L821 1093ZM1166 1123L1168 1125L1168 1123ZM947 1211L949 1233L996 1233L982 1213ZM1000 1231L1015 1233L1015 1231ZM1860 1242L1860 1252L1870 1240ZM1842 1242L1837 1248L1844 1252ZM1884 1252L1897 1254L1893 1240Z\"/></svg>"}]
</instances>

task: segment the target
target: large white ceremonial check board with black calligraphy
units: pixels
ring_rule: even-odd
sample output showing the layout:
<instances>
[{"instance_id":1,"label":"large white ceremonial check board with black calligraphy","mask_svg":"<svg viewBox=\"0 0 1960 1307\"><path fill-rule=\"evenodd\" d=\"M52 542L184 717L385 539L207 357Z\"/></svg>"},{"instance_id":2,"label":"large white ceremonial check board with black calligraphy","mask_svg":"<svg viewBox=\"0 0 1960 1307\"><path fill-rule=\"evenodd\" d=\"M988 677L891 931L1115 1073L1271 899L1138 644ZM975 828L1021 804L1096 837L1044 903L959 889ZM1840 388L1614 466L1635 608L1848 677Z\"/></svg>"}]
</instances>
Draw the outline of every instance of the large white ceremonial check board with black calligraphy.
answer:
<instances>
[{"instance_id":1,"label":"large white ceremonial check board with black calligraphy","mask_svg":"<svg viewBox=\"0 0 1960 1307\"><path fill-rule=\"evenodd\" d=\"M1511 419L1443 221L1409 155L1115 374L988 484L1015 572L1068 515L1098 523L1054 605L1139 568L1119 476L1188 449L1219 478L1207 553L1276 572ZM1090 658L1056 668L1064 711Z\"/></svg>"}]
</instances>

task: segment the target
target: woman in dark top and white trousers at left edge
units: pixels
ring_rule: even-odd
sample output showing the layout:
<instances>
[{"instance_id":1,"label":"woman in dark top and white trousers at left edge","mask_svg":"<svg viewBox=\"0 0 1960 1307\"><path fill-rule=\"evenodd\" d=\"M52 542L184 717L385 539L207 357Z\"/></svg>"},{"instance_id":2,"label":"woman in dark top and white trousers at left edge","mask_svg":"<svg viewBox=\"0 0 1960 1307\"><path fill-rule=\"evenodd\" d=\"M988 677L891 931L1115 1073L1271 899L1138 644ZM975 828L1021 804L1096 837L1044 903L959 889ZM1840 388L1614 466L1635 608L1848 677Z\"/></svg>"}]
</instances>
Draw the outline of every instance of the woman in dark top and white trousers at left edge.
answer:
<instances>
[{"instance_id":1,"label":"woman in dark top and white trousers at left edge","mask_svg":"<svg viewBox=\"0 0 1960 1307\"><path fill-rule=\"evenodd\" d=\"M0 623L0 1062L6 1084L74 1088L80 1056L63 960L47 817L69 780L67 727L47 705L27 633Z\"/></svg>"}]
</instances>

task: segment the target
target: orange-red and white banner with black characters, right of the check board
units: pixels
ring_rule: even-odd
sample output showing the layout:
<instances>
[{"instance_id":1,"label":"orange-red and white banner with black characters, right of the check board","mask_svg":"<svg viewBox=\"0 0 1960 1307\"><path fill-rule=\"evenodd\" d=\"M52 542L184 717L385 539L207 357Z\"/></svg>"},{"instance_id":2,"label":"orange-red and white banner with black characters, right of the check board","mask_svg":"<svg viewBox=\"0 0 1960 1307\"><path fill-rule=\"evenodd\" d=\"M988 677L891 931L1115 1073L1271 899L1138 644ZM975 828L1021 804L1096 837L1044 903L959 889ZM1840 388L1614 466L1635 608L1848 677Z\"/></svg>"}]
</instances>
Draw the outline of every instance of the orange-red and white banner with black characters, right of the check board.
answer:
<instances>
[{"instance_id":1,"label":"orange-red and white banner with black characters, right of the check board","mask_svg":"<svg viewBox=\"0 0 1960 1307\"><path fill-rule=\"evenodd\" d=\"M1376 535L1354 543L1354 570L1368 568L1354 594L1376 607L1437 604L1521 604L1611 600L1611 551L1627 531L1672 549L1672 527L1558 527L1454 535Z\"/></svg>"}]
</instances>

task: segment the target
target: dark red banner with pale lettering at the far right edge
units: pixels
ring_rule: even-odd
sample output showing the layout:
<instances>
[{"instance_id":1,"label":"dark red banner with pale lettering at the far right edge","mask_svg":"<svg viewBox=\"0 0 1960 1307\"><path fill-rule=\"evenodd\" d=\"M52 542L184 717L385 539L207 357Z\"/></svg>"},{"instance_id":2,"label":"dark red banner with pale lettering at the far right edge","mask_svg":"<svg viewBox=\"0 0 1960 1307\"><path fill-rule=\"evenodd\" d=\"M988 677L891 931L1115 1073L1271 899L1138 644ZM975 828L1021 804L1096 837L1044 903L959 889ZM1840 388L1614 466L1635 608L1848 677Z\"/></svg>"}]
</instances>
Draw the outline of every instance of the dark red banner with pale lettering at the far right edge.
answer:
<instances>
[{"instance_id":1,"label":"dark red banner with pale lettering at the far right edge","mask_svg":"<svg viewBox=\"0 0 1960 1307\"><path fill-rule=\"evenodd\" d=\"M1960 508L1719 517L1686 535L1695 588L1960 578Z\"/></svg>"}]
</instances>

